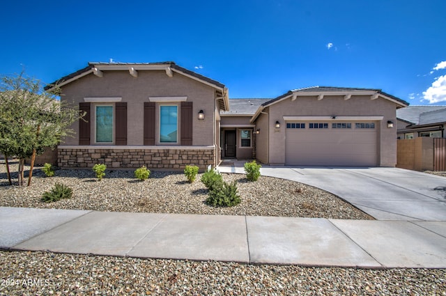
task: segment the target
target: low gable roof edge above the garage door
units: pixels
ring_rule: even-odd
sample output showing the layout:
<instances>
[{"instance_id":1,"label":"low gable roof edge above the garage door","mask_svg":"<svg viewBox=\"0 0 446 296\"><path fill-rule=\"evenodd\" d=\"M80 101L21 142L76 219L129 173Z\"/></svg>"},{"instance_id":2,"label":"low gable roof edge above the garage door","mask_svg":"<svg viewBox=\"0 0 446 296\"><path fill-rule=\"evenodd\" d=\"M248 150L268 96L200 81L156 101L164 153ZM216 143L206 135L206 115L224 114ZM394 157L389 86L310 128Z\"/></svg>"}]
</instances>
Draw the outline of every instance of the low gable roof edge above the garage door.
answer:
<instances>
[{"instance_id":1,"label":"low gable roof edge above the garage door","mask_svg":"<svg viewBox=\"0 0 446 296\"><path fill-rule=\"evenodd\" d=\"M390 100L397 104L397 108L407 107L409 105L408 102L401 100L400 98L394 97L388 93L381 91L380 89L375 88L348 88L348 87L334 87L334 86L310 86L307 88L296 88L280 95L279 97L269 100L268 102L264 102L261 104L259 109L256 111L254 116L251 118L251 122L254 122L256 118L260 115L261 111L272 105L280 102L282 100L286 100L288 98L292 98L295 100L298 96L323 96L325 95L344 95L346 98L349 98L351 95L370 95L371 98L384 98L385 100Z\"/></svg>"}]
</instances>

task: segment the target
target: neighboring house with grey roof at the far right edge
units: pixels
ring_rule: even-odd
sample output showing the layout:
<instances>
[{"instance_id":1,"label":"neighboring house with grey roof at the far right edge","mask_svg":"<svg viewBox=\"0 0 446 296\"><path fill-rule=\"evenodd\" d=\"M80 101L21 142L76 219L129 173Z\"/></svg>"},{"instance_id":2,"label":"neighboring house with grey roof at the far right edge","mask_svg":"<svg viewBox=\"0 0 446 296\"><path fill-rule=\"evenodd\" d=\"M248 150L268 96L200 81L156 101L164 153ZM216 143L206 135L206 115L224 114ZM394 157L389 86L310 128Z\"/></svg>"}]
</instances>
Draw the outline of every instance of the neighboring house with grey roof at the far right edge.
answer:
<instances>
[{"instance_id":1,"label":"neighboring house with grey roof at the far right edge","mask_svg":"<svg viewBox=\"0 0 446 296\"><path fill-rule=\"evenodd\" d=\"M398 139L445 138L446 106L409 106L397 110Z\"/></svg>"}]
</instances>

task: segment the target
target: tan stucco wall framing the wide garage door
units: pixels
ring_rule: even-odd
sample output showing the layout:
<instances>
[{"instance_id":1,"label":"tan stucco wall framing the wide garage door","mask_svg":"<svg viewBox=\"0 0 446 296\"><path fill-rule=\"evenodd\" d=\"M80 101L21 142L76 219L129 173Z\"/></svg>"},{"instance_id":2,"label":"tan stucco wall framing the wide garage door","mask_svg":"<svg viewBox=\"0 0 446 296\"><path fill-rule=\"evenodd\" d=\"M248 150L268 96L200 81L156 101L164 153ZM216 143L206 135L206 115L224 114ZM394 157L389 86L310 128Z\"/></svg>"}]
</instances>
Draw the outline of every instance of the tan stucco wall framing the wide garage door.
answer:
<instances>
[{"instance_id":1,"label":"tan stucco wall framing the wide garage door","mask_svg":"<svg viewBox=\"0 0 446 296\"><path fill-rule=\"evenodd\" d=\"M383 98L370 100L370 96L352 96L350 100L344 100L341 96L326 96L323 100L317 100L316 97L298 97L295 101L289 98L272 104L269 109L270 164L285 163L286 123L283 116L383 116L380 125L377 125L377 165L397 164L397 128L387 128L387 120L392 120L394 123L397 121L394 102ZM281 125L279 129L274 127L276 120ZM259 141L258 144L261 145Z\"/></svg>"}]
</instances>

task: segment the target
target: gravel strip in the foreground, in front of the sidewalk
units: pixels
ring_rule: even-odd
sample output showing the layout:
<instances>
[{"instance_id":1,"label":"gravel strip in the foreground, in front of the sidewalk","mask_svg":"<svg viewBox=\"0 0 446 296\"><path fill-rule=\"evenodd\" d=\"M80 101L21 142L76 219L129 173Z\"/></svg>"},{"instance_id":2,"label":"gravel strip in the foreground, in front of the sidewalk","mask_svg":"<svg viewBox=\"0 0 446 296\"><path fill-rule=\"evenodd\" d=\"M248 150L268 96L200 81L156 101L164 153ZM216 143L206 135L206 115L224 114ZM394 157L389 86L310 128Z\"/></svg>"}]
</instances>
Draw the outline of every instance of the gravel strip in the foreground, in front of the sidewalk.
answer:
<instances>
[{"instance_id":1,"label":"gravel strip in the foreground, in front of the sidewalk","mask_svg":"<svg viewBox=\"0 0 446 296\"><path fill-rule=\"evenodd\" d=\"M0 295L446 295L446 270L244 265L18 251L0 251L0 265Z\"/></svg>"}]
</instances>

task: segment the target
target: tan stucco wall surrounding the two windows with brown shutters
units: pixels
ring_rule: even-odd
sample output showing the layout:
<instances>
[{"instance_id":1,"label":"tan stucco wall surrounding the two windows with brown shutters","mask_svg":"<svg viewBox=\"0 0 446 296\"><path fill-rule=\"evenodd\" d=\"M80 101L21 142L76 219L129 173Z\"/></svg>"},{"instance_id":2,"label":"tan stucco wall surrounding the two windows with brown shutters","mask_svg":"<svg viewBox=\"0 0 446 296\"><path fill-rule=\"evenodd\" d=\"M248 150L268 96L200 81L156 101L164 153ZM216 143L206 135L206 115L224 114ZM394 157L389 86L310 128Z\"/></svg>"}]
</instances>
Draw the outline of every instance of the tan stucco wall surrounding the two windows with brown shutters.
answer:
<instances>
[{"instance_id":1,"label":"tan stucco wall surrounding the two windows with brown shutters","mask_svg":"<svg viewBox=\"0 0 446 296\"><path fill-rule=\"evenodd\" d=\"M86 75L62 88L61 100L67 102L84 102L84 98L122 97L121 102L127 102L128 111L128 145L142 146L144 102L149 97L187 96L187 102L193 104L193 146L210 146L215 137L215 90L199 81L174 73L168 77L164 71L138 71L138 77L132 77L128 71L104 71L103 77L93 74ZM158 107L157 107L158 110ZM203 110L205 120L199 120L199 110ZM93 119L94 110L92 111ZM178 109L178 116L180 110ZM93 120L92 120L93 121ZM92 129L94 125L92 124ZM73 125L75 132L79 124ZM180 129L178 128L178 137ZM91 133L92 142L94 133ZM68 138L64 145L77 145L78 138Z\"/></svg>"}]
</instances>

